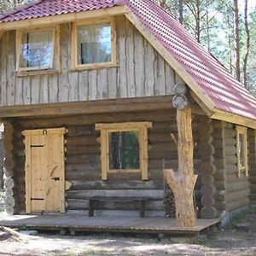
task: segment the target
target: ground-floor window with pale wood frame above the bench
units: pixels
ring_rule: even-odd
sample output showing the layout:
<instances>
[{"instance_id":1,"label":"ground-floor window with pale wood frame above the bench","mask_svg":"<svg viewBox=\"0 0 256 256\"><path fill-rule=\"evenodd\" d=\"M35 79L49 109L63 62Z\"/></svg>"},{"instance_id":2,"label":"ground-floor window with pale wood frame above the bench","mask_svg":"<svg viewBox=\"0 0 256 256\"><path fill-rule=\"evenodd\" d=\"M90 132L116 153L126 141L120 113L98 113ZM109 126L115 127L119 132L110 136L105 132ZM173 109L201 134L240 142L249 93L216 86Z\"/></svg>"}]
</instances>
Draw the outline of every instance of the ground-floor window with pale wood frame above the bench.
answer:
<instances>
[{"instance_id":1,"label":"ground-floor window with pale wood frame above the bench","mask_svg":"<svg viewBox=\"0 0 256 256\"><path fill-rule=\"evenodd\" d=\"M141 172L148 180L148 128L150 122L96 124L101 131L102 180L108 172Z\"/></svg>"}]
</instances>

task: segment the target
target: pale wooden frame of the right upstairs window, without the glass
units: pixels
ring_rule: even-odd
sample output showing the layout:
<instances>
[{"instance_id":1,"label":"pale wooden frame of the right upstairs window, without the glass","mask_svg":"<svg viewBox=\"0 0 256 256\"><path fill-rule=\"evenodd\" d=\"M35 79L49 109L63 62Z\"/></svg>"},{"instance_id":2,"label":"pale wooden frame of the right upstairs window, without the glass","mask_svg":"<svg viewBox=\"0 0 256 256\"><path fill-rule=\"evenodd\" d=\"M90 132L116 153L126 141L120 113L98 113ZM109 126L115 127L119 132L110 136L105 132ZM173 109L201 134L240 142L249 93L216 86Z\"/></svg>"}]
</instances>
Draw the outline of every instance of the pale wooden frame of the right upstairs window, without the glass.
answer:
<instances>
[{"instance_id":1,"label":"pale wooden frame of the right upstairs window, without the glass","mask_svg":"<svg viewBox=\"0 0 256 256\"><path fill-rule=\"evenodd\" d=\"M89 64L79 64L78 60L78 27L79 26L90 26L98 25L103 23L110 23L111 27L111 61L106 62L96 62ZM72 55L71 55L71 69L72 70L86 70L86 69L96 69L104 67L115 67L117 65L116 55L117 55L117 36L116 36L116 24L115 18L109 17L100 20L83 20L73 22L72 28Z\"/></svg>"}]
</instances>

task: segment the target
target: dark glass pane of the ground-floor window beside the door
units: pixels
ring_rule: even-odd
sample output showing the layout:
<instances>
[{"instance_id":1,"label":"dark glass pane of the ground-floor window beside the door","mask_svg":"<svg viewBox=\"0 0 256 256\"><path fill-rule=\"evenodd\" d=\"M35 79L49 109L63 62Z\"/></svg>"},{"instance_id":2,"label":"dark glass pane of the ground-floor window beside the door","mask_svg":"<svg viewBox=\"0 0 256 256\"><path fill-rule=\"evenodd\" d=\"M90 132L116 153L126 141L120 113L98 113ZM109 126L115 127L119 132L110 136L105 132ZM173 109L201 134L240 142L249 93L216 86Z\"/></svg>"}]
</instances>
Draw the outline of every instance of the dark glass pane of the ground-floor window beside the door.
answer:
<instances>
[{"instance_id":1,"label":"dark glass pane of the ground-floor window beside the door","mask_svg":"<svg viewBox=\"0 0 256 256\"><path fill-rule=\"evenodd\" d=\"M122 131L109 133L109 168L139 169L139 132Z\"/></svg>"}]
</instances>

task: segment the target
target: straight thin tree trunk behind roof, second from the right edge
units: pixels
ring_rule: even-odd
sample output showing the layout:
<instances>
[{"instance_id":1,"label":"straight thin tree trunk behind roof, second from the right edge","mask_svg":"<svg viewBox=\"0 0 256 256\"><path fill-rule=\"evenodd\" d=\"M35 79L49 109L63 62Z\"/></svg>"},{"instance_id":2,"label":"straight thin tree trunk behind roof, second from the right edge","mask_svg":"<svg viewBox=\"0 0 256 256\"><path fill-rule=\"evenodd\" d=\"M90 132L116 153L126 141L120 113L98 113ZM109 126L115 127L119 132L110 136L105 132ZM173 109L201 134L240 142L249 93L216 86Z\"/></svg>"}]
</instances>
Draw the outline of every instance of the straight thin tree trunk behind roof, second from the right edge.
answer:
<instances>
[{"instance_id":1,"label":"straight thin tree trunk behind roof, second from the right edge","mask_svg":"<svg viewBox=\"0 0 256 256\"><path fill-rule=\"evenodd\" d=\"M235 60L236 60L236 79L240 81L240 37L239 37L239 14L238 0L234 0L234 29L235 29Z\"/></svg>"}]
</instances>

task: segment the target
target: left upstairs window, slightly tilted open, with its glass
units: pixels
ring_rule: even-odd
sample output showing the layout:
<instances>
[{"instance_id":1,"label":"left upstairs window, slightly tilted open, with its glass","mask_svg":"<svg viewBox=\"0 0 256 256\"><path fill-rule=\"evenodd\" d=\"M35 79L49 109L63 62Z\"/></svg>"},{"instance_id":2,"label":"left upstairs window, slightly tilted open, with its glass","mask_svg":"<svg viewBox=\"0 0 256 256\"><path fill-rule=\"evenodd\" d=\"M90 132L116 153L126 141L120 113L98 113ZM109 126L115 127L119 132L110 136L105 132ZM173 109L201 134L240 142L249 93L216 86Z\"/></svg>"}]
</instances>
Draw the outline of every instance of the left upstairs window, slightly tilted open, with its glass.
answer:
<instances>
[{"instance_id":1,"label":"left upstairs window, slightly tilted open, with its glass","mask_svg":"<svg viewBox=\"0 0 256 256\"><path fill-rule=\"evenodd\" d=\"M56 27L17 32L18 72L47 71L57 67L59 46L55 42L56 32Z\"/></svg>"}]
</instances>

